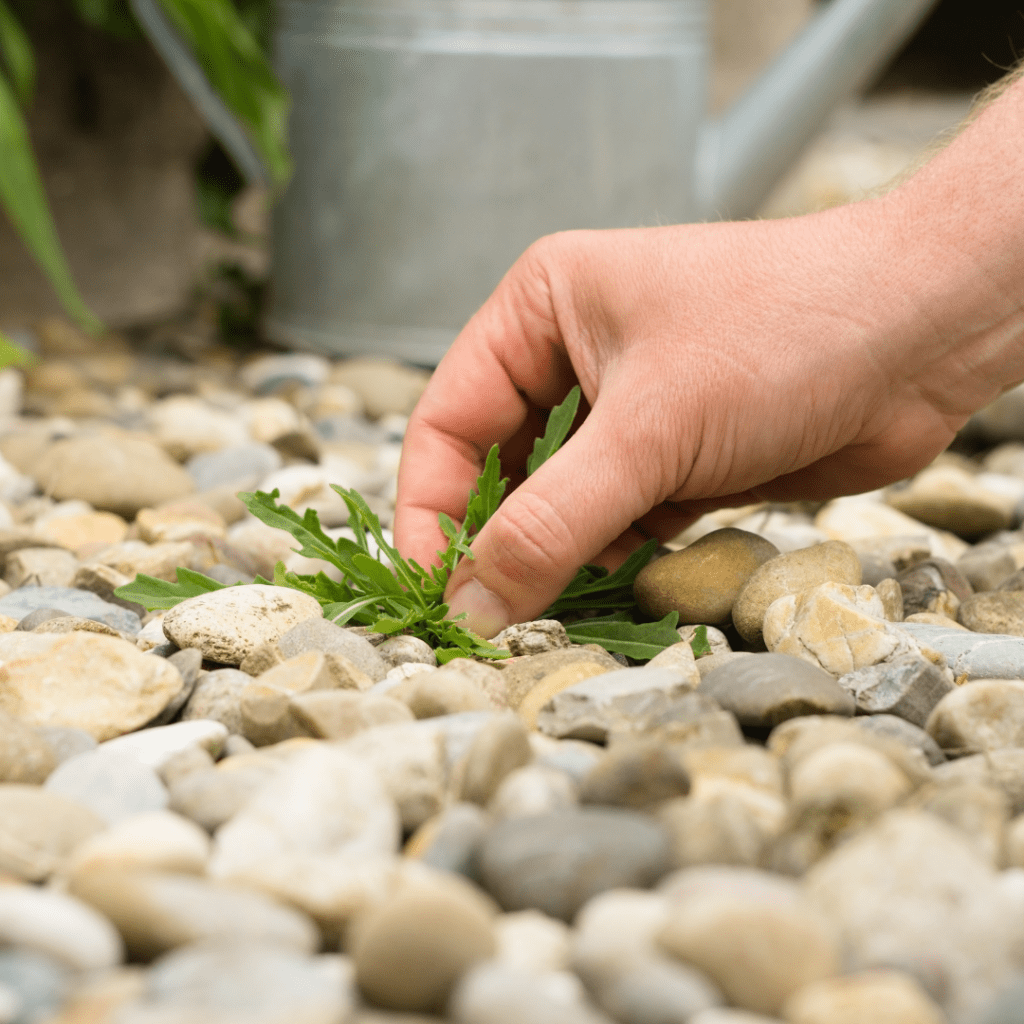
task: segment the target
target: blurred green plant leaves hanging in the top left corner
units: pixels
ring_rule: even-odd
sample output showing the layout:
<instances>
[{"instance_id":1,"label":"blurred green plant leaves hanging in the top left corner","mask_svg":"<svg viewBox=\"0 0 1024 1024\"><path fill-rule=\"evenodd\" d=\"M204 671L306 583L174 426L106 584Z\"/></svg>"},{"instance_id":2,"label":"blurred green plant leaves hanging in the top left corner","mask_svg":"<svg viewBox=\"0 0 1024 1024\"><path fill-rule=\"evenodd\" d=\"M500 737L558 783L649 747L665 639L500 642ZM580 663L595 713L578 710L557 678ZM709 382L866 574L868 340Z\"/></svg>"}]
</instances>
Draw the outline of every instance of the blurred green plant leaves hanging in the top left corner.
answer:
<instances>
[{"instance_id":1,"label":"blurred green plant leaves hanging in the top left corner","mask_svg":"<svg viewBox=\"0 0 1024 1024\"><path fill-rule=\"evenodd\" d=\"M272 188L288 180L288 97L267 57L270 0L69 0L69 16L119 38L146 36L154 23L191 53L208 86L243 126ZM99 319L82 299L61 250L26 122L36 89L33 47L25 23L32 0L0 0L0 206L34 256L67 313L96 333ZM145 14L150 16L138 16ZM160 47L157 47L160 49ZM200 219L236 236L231 203L245 183L225 150L212 141L197 165ZM0 365L18 349L0 336Z\"/></svg>"}]
</instances>

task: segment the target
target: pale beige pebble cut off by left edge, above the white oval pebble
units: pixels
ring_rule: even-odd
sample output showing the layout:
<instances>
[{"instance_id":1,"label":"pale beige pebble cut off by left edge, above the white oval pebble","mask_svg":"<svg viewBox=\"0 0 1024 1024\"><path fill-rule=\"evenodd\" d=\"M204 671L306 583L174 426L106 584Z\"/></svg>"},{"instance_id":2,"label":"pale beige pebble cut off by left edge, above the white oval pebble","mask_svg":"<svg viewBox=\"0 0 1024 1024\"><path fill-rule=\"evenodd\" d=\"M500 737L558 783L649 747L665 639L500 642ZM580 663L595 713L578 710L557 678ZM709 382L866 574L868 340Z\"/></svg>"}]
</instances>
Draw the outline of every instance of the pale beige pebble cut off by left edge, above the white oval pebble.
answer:
<instances>
[{"instance_id":1,"label":"pale beige pebble cut off by left edge, above the white oval pebble","mask_svg":"<svg viewBox=\"0 0 1024 1024\"><path fill-rule=\"evenodd\" d=\"M42 882L104 821L87 807L37 785L0 785L0 873Z\"/></svg>"}]
</instances>

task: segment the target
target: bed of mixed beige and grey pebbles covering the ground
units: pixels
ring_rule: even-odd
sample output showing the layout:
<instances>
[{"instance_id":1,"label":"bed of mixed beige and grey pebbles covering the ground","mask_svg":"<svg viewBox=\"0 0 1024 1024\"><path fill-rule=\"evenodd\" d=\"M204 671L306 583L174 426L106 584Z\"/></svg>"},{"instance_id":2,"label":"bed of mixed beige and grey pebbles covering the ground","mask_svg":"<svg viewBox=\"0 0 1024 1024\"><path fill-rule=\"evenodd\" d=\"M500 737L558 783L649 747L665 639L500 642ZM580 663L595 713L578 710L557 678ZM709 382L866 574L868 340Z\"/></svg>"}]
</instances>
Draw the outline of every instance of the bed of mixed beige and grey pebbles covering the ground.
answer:
<instances>
[{"instance_id":1,"label":"bed of mixed beige and grey pebbles covering the ground","mask_svg":"<svg viewBox=\"0 0 1024 1024\"><path fill-rule=\"evenodd\" d=\"M703 517L646 665L500 663L177 566L391 524L420 371L86 345L0 373L0 1024L1024 1020L1024 399L978 454ZM710 654L694 658L694 627Z\"/></svg>"}]
</instances>

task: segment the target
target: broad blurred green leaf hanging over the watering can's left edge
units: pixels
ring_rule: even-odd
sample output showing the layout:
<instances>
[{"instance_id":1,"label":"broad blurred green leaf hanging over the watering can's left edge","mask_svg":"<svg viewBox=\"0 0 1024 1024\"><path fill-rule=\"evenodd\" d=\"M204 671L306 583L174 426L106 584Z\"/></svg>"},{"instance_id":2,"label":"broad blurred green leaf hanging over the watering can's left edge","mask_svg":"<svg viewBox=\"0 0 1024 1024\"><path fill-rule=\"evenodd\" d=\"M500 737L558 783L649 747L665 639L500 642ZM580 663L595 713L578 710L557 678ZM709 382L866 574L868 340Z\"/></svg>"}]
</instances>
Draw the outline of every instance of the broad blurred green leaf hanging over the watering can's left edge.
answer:
<instances>
[{"instance_id":1,"label":"broad blurred green leaf hanging over the watering can's left edge","mask_svg":"<svg viewBox=\"0 0 1024 1024\"><path fill-rule=\"evenodd\" d=\"M288 155L288 94L231 0L160 0L191 47L210 85L245 124L270 171L284 185Z\"/></svg>"}]
</instances>

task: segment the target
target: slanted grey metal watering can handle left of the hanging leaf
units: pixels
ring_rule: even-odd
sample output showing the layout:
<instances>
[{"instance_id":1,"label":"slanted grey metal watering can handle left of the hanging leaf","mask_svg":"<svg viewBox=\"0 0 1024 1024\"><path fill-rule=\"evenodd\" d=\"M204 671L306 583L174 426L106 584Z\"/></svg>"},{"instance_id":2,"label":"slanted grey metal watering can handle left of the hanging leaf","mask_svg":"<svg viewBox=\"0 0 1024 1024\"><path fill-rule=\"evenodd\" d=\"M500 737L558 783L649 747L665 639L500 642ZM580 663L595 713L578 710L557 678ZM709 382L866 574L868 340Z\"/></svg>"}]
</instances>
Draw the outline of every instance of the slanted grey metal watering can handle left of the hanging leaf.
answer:
<instances>
[{"instance_id":1,"label":"slanted grey metal watering can handle left of the hanging leaf","mask_svg":"<svg viewBox=\"0 0 1024 1024\"><path fill-rule=\"evenodd\" d=\"M182 42L157 0L130 0L132 12L164 58L200 116L230 155L249 184L269 184L270 174L245 129L207 80L191 50Z\"/></svg>"}]
</instances>

